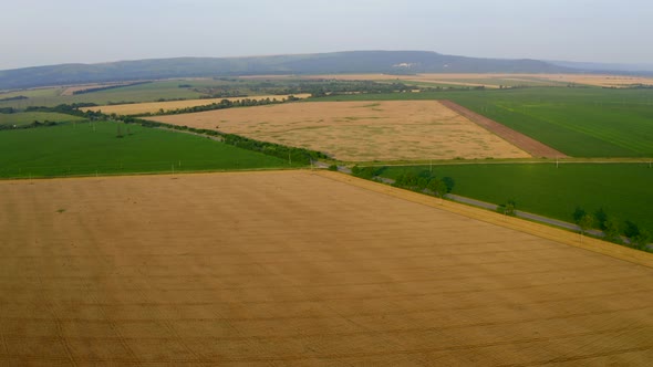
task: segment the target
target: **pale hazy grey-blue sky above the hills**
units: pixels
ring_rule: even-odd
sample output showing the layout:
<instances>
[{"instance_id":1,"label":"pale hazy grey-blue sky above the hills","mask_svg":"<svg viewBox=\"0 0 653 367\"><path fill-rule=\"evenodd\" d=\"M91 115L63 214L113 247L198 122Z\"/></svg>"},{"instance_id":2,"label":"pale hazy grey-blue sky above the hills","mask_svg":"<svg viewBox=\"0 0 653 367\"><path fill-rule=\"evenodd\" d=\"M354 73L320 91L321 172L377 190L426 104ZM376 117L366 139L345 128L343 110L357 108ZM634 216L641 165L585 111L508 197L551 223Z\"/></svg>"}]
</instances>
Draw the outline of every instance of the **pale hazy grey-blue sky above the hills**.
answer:
<instances>
[{"instance_id":1,"label":"pale hazy grey-blue sky above the hills","mask_svg":"<svg viewBox=\"0 0 653 367\"><path fill-rule=\"evenodd\" d=\"M0 70L351 50L653 64L652 0L1 0Z\"/></svg>"}]
</instances>

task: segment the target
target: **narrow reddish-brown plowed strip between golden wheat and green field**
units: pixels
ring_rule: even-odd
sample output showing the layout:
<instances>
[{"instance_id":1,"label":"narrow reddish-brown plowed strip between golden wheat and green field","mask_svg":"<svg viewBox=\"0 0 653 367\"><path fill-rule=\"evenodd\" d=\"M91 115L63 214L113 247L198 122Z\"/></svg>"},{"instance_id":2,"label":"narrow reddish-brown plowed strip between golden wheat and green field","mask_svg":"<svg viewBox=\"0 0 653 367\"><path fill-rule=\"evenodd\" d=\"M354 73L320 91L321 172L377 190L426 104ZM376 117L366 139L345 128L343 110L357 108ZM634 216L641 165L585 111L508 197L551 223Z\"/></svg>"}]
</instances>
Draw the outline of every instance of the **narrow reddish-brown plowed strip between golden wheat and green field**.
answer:
<instances>
[{"instance_id":1,"label":"narrow reddish-brown plowed strip between golden wheat and green field","mask_svg":"<svg viewBox=\"0 0 653 367\"><path fill-rule=\"evenodd\" d=\"M469 120L478 124L479 126L488 129L500 136L501 138L506 139L510 144L519 147L520 149L528 151L533 157L543 157L543 158L564 158L564 155L561 151L558 151L548 145L545 145L529 136L526 136L519 132L516 132L509 128L506 125L499 124L493 119L489 119L483 115L475 113L468 108L465 108L452 101L440 101L440 103L448 108L457 112L458 114L469 118Z\"/></svg>"}]
</instances>

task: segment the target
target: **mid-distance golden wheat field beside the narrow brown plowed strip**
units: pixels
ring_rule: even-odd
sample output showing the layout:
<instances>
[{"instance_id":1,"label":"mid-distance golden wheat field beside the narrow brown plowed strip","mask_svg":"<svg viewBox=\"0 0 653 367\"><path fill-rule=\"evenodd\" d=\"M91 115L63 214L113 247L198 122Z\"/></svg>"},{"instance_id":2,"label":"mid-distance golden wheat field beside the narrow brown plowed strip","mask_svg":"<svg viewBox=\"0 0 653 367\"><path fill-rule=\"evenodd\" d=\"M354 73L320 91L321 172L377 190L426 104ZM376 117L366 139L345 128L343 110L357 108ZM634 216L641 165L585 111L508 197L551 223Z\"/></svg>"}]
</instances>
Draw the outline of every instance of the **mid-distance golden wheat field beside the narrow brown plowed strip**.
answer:
<instances>
[{"instance_id":1,"label":"mid-distance golden wheat field beside the narrow brown plowed strip","mask_svg":"<svg viewBox=\"0 0 653 367\"><path fill-rule=\"evenodd\" d=\"M530 157L436 101L292 103L151 119L320 150L349 161Z\"/></svg>"}]
</instances>

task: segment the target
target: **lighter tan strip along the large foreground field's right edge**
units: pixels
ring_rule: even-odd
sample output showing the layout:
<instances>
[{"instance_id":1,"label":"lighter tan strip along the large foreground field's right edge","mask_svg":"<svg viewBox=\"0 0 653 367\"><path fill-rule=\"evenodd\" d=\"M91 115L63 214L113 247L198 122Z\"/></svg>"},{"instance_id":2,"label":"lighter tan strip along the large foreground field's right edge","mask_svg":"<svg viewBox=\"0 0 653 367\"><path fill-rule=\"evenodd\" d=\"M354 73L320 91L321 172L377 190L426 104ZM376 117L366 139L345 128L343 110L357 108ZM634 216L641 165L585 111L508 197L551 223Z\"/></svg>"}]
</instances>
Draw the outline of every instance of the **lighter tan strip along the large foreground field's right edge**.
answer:
<instances>
[{"instance_id":1,"label":"lighter tan strip along the large foreground field's right edge","mask_svg":"<svg viewBox=\"0 0 653 367\"><path fill-rule=\"evenodd\" d=\"M599 239L581 237L580 234L572 233L562 229L548 227L545 224L531 222L516 217L507 217L497 212L488 211L485 209L449 200L442 201L438 198L429 197L423 193L398 189L384 184L374 182L340 172L320 170L315 171L315 175L343 184L348 184L351 186L355 186L365 190L392 196L415 203L421 203L435 209L445 210L470 219L480 220L490 224L529 233L542 239L552 240L562 244L588 250L591 252L600 253L603 255L608 255L611 258L620 259L623 261L653 269L653 255L643 251L601 241Z\"/></svg>"}]
</instances>

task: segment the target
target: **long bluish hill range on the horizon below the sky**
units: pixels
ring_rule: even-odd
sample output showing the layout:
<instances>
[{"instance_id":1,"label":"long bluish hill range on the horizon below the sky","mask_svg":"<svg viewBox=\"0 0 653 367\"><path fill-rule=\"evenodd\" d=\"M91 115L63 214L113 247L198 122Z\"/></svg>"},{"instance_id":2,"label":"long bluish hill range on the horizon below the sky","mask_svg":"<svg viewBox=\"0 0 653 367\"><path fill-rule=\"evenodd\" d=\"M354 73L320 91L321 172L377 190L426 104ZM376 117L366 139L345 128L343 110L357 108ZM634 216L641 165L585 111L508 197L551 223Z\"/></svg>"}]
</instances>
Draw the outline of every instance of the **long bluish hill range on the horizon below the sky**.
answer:
<instances>
[{"instance_id":1,"label":"long bluish hill range on the horizon below the sky","mask_svg":"<svg viewBox=\"0 0 653 367\"><path fill-rule=\"evenodd\" d=\"M426 51L351 51L249 57L177 57L25 67L0 71L0 90L255 74L574 72L583 72L583 70L538 60L476 59Z\"/></svg>"}]
</instances>

